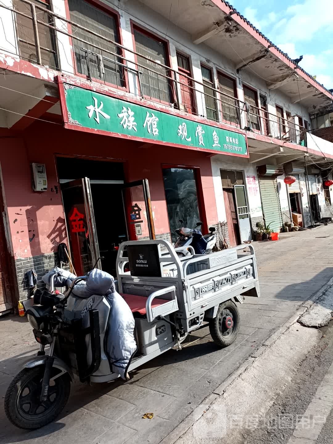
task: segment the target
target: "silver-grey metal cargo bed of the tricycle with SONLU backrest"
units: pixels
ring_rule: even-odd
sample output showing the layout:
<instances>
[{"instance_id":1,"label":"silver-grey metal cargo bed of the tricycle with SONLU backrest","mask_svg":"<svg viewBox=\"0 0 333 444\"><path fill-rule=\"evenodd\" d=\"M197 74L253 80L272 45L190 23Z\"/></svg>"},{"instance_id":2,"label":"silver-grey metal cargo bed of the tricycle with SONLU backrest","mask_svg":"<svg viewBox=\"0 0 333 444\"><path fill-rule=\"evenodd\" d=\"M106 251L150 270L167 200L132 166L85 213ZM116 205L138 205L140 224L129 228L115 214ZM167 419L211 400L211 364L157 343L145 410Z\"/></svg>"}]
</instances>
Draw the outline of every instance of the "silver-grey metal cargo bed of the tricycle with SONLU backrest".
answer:
<instances>
[{"instance_id":1,"label":"silver-grey metal cargo bed of the tricycle with SONLU backrest","mask_svg":"<svg viewBox=\"0 0 333 444\"><path fill-rule=\"evenodd\" d=\"M135 246L134 256L137 254L135 258L132 245ZM141 250L138 250L138 246ZM155 246L155 253L151 250L152 246ZM163 252L161 246L164 247ZM157 316L174 313L188 332L198 328L204 319L211 318L222 302L230 299L242 302L244 298L240 295L259 296L254 248L251 245L248 247L248 255L238 255L244 250L244 246L238 246L209 255L178 258L167 241L124 242L119 247L117 258L119 293L147 297L147 318L152 321ZM158 267L156 263L151 267L152 260L159 261ZM124 272L128 262L131 271ZM136 270L145 276L133 275L133 263L138 264ZM151 275L147 275L149 270L153 270ZM154 297L166 300L156 310L148 306L151 305L148 300Z\"/></svg>"}]
</instances>

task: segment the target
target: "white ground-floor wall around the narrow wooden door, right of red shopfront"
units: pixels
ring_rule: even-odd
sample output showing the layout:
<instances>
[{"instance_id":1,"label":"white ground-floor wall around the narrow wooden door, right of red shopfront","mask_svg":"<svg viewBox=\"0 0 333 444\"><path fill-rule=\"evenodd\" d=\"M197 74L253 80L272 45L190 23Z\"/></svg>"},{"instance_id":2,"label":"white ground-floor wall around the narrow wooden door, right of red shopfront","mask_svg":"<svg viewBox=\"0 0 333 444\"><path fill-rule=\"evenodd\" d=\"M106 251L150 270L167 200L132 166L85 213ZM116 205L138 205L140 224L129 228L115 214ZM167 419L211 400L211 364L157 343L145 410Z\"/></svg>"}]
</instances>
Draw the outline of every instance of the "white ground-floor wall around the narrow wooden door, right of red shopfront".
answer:
<instances>
[{"instance_id":1,"label":"white ground-floor wall around the narrow wooden door, right of red shopfront","mask_svg":"<svg viewBox=\"0 0 333 444\"><path fill-rule=\"evenodd\" d=\"M223 189L220 170L242 171L246 181L246 194L250 207L251 218L262 218L262 202L260 198L257 168L248 163L247 159L233 159L231 156L216 155L211 159L216 208L219 222L226 222Z\"/></svg>"}]
</instances>

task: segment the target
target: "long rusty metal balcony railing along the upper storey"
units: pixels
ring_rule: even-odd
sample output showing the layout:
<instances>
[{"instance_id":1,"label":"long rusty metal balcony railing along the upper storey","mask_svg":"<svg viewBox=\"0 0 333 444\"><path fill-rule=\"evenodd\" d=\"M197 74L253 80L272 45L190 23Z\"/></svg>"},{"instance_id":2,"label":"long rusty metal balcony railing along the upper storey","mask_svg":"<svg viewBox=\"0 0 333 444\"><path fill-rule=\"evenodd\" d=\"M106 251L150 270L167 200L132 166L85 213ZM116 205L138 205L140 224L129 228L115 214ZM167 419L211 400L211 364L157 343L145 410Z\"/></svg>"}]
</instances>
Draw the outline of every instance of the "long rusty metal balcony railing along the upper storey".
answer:
<instances>
[{"instance_id":1,"label":"long rusty metal balcony railing along the upper storey","mask_svg":"<svg viewBox=\"0 0 333 444\"><path fill-rule=\"evenodd\" d=\"M305 130L297 124L126 48L40 4L18 0L15 8L1 3L0 8L12 12L22 59L105 83L215 122L306 144ZM66 52L61 35L70 39L73 58L70 51ZM72 71L65 70L63 64Z\"/></svg>"}]
</instances>

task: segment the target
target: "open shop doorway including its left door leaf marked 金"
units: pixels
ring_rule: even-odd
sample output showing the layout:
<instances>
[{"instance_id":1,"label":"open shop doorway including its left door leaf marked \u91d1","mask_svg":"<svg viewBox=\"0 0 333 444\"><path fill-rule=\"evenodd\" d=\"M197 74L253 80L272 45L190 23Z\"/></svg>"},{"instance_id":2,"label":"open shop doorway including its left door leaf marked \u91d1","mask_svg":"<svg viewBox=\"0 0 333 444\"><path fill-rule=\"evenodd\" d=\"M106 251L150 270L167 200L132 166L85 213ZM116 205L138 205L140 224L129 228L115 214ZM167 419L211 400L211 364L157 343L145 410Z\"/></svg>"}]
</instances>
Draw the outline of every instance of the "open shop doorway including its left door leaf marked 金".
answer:
<instances>
[{"instance_id":1,"label":"open shop doorway including its left door leaf marked \u91d1","mask_svg":"<svg viewBox=\"0 0 333 444\"><path fill-rule=\"evenodd\" d=\"M59 157L57 169L75 273L97 262L115 276L118 246L127 240L123 163Z\"/></svg>"}]
</instances>

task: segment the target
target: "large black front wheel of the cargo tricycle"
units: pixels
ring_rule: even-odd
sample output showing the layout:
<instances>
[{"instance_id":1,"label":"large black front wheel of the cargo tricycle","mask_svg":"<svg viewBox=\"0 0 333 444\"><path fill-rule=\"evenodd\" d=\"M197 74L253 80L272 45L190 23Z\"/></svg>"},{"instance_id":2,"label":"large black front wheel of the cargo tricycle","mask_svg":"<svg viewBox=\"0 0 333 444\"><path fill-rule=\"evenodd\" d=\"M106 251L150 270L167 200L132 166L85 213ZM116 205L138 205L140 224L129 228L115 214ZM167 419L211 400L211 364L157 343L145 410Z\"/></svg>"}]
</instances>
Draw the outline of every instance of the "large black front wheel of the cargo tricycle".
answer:
<instances>
[{"instance_id":1,"label":"large black front wheel of the cargo tricycle","mask_svg":"<svg viewBox=\"0 0 333 444\"><path fill-rule=\"evenodd\" d=\"M4 399L7 418L16 427L34 430L49 424L63 410L71 390L67 373L51 381L48 400L40 401L44 366L23 369L9 385ZM57 373L52 370L52 376Z\"/></svg>"}]
</instances>

